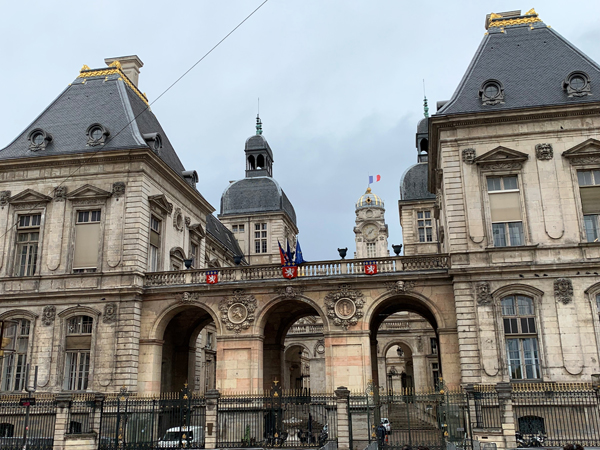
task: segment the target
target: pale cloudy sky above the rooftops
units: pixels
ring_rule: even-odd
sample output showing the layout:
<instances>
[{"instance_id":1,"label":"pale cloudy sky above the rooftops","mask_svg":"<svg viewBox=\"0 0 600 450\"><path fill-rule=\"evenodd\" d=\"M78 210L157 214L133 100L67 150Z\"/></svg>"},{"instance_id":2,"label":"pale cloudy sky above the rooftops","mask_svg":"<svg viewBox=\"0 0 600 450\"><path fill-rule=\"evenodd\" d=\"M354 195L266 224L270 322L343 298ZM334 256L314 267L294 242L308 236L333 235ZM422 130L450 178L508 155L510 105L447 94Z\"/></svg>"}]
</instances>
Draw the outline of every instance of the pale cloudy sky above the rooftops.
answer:
<instances>
[{"instance_id":1,"label":"pale cloudy sky above the rooftops","mask_svg":"<svg viewBox=\"0 0 600 450\"><path fill-rule=\"evenodd\" d=\"M137 54L153 101L263 0L11 2L0 18L0 148L83 64ZM373 185L386 202L389 244L402 239L397 202L416 162L415 127L452 95L485 15L535 7L540 18L600 61L600 2L269 0L152 110L198 188L219 210L244 176L257 98L274 177L294 204L308 260L354 251L354 203Z\"/></svg>"}]
</instances>

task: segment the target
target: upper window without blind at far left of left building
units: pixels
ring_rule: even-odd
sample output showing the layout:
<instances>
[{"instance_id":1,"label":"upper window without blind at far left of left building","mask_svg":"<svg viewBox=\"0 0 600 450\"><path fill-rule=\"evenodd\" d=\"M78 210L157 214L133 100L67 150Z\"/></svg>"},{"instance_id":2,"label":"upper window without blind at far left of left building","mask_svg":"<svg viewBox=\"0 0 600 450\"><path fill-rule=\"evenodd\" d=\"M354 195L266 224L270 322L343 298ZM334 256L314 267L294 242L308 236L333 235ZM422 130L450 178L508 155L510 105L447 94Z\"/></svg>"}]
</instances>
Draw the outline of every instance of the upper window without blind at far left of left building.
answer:
<instances>
[{"instance_id":1,"label":"upper window without blind at far left of left building","mask_svg":"<svg viewBox=\"0 0 600 450\"><path fill-rule=\"evenodd\" d=\"M29 277L37 272L41 214L22 214L17 218L15 275Z\"/></svg>"}]
</instances>

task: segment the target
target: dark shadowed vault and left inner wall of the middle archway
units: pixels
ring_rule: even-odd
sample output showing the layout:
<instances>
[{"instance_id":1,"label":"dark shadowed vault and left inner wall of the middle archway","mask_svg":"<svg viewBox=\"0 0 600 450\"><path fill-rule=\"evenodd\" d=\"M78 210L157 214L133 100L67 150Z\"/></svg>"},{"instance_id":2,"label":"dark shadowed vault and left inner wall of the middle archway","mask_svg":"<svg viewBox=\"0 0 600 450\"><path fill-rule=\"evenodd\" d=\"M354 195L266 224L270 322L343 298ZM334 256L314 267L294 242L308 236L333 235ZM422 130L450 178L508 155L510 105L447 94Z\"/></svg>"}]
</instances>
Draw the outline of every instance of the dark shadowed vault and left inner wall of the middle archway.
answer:
<instances>
[{"instance_id":1,"label":"dark shadowed vault and left inner wall of the middle archway","mask_svg":"<svg viewBox=\"0 0 600 450\"><path fill-rule=\"evenodd\" d=\"M319 317L322 323L320 337L327 327L322 311L308 299L278 300L267 307L263 314L261 329L263 336L263 389L269 389L274 382L282 383L288 388L295 388L296 382L290 386L289 367L286 368L284 341L290 328L304 317ZM312 336L318 340L318 333ZM299 355L298 355L299 356ZM302 358L298 358L299 362ZM300 366L299 366L300 368ZM300 372L301 373L301 372ZM285 381L284 381L285 379Z\"/></svg>"}]
</instances>

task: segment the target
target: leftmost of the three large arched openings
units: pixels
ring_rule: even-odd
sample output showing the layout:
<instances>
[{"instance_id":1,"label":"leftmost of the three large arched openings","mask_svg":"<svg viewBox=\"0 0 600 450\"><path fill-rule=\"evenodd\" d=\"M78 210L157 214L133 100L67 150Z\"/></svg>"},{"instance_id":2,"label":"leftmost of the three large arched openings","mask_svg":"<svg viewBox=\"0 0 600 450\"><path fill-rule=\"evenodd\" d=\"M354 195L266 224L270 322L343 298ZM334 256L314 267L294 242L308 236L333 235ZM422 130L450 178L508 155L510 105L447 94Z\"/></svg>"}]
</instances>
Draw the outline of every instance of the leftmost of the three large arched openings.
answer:
<instances>
[{"instance_id":1,"label":"leftmost of the three large arched openings","mask_svg":"<svg viewBox=\"0 0 600 450\"><path fill-rule=\"evenodd\" d=\"M214 388L216 326L212 316L194 305L171 311L164 318L161 357L161 392L179 391L184 384L194 391Z\"/></svg>"}]
</instances>

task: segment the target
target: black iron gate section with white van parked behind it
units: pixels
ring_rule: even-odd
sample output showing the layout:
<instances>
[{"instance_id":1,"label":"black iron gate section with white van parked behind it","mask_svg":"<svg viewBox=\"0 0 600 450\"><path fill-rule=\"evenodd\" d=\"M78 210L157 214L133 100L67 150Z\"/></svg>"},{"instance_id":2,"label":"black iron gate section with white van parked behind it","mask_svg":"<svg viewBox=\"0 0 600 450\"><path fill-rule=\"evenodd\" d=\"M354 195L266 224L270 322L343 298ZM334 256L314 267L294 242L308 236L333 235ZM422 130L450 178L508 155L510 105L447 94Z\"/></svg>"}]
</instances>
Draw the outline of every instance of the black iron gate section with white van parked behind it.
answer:
<instances>
[{"instance_id":1,"label":"black iron gate section with white van parked behind it","mask_svg":"<svg viewBox=\"0 0 600 450\"><path fill-rule=\"evenodd\" d=\"M189 392L158 398L128 395L107 397L102 403L99 450L204 448L206 403Z\"/></svg>"}]
</instances>

